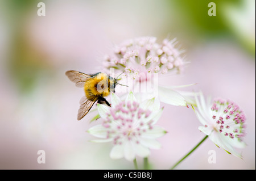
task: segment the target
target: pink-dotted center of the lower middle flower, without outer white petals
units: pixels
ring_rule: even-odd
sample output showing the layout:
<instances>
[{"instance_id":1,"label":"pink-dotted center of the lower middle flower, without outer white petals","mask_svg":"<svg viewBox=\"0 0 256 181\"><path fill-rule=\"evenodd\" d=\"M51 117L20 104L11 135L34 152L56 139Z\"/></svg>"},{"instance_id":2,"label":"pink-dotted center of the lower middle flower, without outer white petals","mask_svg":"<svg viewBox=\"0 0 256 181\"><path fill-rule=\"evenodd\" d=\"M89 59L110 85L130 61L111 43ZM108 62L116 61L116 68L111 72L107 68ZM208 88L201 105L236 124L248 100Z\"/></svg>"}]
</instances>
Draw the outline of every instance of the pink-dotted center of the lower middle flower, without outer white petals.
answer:
<instances>
[{"instance_id":1,"label":"pink-dotted center of the lower middle flower, without outer white petals","mask_svg":"<svg viewBox=\"0 0 256 181\"><path fill-rule=\"evenodd\" d=\"M104 127L109 129L107 137L114 137L114 144L122 144L125 140L133 140L137 143L138 137L148 129L152 129L152 121L144 123L151 114L149 110L143 110L137 102L121 102L114 108L104 120Z\"/></svg>"}]
</instances>

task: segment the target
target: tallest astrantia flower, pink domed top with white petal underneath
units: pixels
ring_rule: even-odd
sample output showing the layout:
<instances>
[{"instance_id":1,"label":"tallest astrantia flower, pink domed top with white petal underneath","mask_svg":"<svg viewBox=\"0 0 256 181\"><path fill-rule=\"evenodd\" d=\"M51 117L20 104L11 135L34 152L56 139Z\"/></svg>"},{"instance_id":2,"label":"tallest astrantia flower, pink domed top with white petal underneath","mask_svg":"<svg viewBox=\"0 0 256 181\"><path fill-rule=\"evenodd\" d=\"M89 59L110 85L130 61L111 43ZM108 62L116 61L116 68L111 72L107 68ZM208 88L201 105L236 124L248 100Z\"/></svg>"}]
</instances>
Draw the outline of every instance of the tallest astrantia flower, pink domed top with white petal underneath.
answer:
<instances>
[{"instance_id":1,"label":"tallest astrantia flower, pink domed top with white petal underneath","mask_svg":"<svg viewBox=\"0 0 256 181\"><path fill-rule=\"evenodd\" d=\"M158 78L163 77L163 74L172 75L180 73L183 69L185 64L184 58L181 57L183 52L175 48L175 44L175 39L172 41L164 39L159 44L156 43L156 37L147 36L126 40L117 45L112 54L106 56L104 65L107 69L114 68L123 72L127 79L133 79L135 82L129 91L133 91L134 94L142 92L144 89L141 87L147 87L147 84L157 86L154 92L148 89L142 92L141 96L144 97L142 100L156 97L167 104L187 106L188 102L183 94L172 87L166 87L167 83L161 86L153 81L156 76L156 81L159 81Z\"/></svg>"}]
</instances>

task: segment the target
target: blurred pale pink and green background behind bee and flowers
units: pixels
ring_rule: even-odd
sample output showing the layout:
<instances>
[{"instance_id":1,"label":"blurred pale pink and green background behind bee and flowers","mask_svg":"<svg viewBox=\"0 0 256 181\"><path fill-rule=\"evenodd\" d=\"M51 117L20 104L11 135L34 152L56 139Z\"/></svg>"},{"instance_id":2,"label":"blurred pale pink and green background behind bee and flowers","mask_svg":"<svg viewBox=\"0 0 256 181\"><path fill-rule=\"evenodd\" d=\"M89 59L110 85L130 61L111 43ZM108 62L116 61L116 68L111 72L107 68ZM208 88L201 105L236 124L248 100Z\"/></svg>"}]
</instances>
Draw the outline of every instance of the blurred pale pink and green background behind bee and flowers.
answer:
<instances>
[{"instance_id":1,"label":"blurred pale pink and green background behind bee and flowers","mask_svg":"<svg viewBox=\"0 0 256 181\"><path fill-rule=\"evenodd\" d=\"M46 16L38 16L38 2ZM216 16L208 3L216 3ZM243 159L206 140L176 169L255 169L255 1L0 1L0 169L133 169L109 158L110 144L89 142L93 115L76 120L84 94L67 70L95 73L125 39L176 37L191 62L167 85L232 99L245 111ZM152 150L152 169L169 169L204 134L191 108L163 105L168 133ZM37 162L38 150L46 163ZM216 163L208 163L208 151ZM142 159L138 159L139 166Z\"/></svg>"}]
</instances>

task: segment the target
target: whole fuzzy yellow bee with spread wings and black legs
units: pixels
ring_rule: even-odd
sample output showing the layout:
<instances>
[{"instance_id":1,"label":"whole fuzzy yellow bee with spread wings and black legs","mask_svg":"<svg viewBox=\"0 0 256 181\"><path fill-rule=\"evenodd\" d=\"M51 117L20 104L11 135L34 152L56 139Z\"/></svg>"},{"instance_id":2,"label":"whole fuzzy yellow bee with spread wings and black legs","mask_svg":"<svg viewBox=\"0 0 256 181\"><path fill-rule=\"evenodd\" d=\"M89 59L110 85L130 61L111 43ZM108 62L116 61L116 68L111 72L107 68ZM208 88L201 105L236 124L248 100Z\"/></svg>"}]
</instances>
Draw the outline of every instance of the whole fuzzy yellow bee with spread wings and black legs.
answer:
<instances>
[{"instance_id":1,"label":"whole fuzzy yellow bee with spread wings and black legs","mask_svg":"<svg viewBox=\"0 0 256 181\"><path fill-rule=\"evenodd\" d=\"M118 79L101 72L89 75L81 73L80 71L69 70L66 71L65 74L72 82L76 83L77 87L84 87L85 96L80 99L77 120L81 120L90 111L90 108L92 108L96 101L100 104L106 103L110 106L105 97L108 96L110 92L115 92L115 85L119 84L117 82Z\"/></svg>"}]
</instances>

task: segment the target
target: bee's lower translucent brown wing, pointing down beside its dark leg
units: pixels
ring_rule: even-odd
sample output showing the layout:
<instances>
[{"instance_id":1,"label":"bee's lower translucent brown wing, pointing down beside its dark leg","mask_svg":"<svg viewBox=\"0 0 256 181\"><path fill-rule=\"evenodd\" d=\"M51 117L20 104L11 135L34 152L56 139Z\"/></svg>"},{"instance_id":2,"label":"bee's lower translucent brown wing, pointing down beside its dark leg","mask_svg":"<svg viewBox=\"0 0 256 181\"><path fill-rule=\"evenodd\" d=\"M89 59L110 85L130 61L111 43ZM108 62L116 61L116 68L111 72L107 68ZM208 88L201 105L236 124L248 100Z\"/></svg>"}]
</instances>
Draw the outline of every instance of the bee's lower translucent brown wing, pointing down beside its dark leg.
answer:
<instances>
[{"instance_id":1,"label":"bee's lower translucent brown wing, pointing down beside its dark leg","mask_svg":"<svg viewBox=\"0 0 256 181\"><path fill-rule=\"evenodd\" d=\"M86 98L86 96L83 96L80 99L80 108L79 111L77 113L77 120L81 120L82 117L84 117L89 111L90 108L92 108L93 104L97 101L97 96L94 97L93 100L89 100L88 98Z\"/></svg>"}]
</instances>

